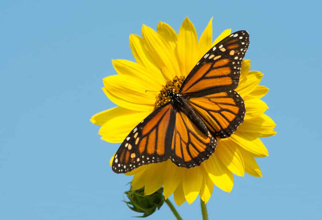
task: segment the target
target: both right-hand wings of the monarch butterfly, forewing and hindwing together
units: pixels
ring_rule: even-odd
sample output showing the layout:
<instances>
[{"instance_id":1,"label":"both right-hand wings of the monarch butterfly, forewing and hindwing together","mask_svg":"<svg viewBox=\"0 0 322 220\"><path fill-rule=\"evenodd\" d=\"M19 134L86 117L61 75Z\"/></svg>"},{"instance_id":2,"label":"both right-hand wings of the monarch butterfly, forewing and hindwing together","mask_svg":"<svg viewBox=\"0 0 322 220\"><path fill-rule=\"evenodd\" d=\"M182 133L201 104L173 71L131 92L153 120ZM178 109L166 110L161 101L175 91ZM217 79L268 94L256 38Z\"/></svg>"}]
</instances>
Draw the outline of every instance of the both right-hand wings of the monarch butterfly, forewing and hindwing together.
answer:
<instances>
[{"instance_id":1,"label":"both right-hand wings of the monarch butterfly, forewing and hindwing together","mask_svg":"<svg viewBox=\"0 0 322 220\"><path fill-rule=\"evenodd\" d=\"M204 55L180 88L200 119L219 138L231 136L244 120L244 100L233 89L238 86L248 46L247 31L232 33Z\"/></svg>"}]
</instances>

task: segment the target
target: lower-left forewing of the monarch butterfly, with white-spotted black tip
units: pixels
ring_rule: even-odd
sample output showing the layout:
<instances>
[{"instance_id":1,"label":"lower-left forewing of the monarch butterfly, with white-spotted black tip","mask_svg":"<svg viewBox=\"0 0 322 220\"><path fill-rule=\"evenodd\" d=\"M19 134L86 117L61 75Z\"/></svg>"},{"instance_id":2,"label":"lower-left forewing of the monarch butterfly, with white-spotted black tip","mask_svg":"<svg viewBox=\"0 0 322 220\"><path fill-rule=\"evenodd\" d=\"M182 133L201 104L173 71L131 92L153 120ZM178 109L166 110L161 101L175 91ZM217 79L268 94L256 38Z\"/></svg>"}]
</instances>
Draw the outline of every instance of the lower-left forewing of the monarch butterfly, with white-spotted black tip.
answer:
<instances>
[{"instance_id":1,"label":"lower-left forewing of the monarch butterfly, with white-spotted black tip","mask_svg":"<svg viewBox=\"0 0 322 220\"><path fill-rule=\"evenodd\" d=\"M127 173L169 159L174 121L175 110L170 103L154 110L125 138L114 156L112 170Z\"/></svg>"}]
</instances>

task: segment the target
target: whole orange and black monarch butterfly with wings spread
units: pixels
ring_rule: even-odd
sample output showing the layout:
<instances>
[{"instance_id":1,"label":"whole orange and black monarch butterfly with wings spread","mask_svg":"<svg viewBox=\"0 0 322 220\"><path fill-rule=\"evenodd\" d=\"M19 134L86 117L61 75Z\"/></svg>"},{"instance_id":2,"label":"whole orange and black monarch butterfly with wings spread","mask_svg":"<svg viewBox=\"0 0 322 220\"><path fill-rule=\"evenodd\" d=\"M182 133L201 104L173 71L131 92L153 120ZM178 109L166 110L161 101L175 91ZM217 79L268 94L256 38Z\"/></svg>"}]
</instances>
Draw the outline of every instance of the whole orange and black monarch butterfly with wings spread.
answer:
<instances>
[{"instance_id":1,"label":"whole orange and black monarch butterfly with wings spread","mask_svg":"<svg viewBox=\"0 0 322 220\"><path fill-rule=\"evenodd\" d=\"M238 86L247 31L234 32L212 47L183 81L170 101L156 108L125 138L112 170L127 173L170 159L179 167L199 166L243 122L246 109Z\"/></svg>"}]
</instances>

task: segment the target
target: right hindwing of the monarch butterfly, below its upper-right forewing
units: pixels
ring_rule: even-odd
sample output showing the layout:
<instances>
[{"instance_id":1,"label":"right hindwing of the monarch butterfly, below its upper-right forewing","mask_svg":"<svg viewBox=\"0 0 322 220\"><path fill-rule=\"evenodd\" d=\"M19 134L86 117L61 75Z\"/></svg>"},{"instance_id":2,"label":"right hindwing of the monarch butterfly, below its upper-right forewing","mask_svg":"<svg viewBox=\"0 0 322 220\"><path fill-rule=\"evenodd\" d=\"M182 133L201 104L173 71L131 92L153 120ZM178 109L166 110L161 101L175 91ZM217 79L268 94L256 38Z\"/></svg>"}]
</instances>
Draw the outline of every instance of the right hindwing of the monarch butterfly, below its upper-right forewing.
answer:
<instances>
[{"instance_id":1,"label":"right hindwing of the monarch butterfly, below its upper-right forewing","mask_svg":"<svg viewBox=\"0 0 322 220\"><path fill-rule=\"evenodd\" d=\"M189 103L211 133L219 138L230 137L244 121L244 100L233 90L190 98Z\"/></svg>"}]
</instances>

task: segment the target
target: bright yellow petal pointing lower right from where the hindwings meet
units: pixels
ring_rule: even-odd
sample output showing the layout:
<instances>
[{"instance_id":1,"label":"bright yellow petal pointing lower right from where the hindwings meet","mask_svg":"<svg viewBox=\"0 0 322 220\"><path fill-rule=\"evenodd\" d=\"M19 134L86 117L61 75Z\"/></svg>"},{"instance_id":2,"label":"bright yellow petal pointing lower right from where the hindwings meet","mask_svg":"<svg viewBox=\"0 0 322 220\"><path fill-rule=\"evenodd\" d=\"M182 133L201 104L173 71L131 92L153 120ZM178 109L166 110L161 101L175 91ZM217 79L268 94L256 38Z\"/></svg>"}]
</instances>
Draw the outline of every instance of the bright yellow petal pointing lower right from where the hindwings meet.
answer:
<instances>
[{"instance_id":1,"label":"bright yellow petal pointing lower right from where the hindwings meet","mask_svg":"<svg viewBox=\"0 0 322 220\"><path fill-rule=\"evenodd\" d=\"M244 176L244 161L242 155L236 147L229 144L229 141L219 139L214 156L237 176Z\"/></svg>"}]
</instances>

